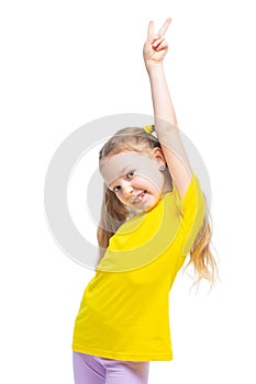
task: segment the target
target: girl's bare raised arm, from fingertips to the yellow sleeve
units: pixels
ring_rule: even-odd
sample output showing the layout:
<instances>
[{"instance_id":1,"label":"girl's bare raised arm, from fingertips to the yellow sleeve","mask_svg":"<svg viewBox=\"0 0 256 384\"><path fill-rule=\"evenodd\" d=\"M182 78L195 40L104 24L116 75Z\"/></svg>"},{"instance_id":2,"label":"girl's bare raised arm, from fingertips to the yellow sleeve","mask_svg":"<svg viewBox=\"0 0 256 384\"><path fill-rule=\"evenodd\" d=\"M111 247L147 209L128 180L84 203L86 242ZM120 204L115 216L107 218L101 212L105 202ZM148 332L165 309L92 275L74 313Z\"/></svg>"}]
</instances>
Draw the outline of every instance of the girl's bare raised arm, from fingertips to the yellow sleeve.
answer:
<instances>
[{"instance_id":1,"label":"girl's bare raised arm, from fingertips to the yellow sleeve","mask_svg":"<svg viewBox=\"0 0 256 384\"><path fill-rule=\"evenodd\" d=\"M143 57L151 82L155 131L174 183L182 199L191 180L191 168L180 137L163 66L164 57L168 50L164 35L170 22L171 19L167 19L157 34L154 32L154 22L149 22Z\"/></svg>"}]
</instances>

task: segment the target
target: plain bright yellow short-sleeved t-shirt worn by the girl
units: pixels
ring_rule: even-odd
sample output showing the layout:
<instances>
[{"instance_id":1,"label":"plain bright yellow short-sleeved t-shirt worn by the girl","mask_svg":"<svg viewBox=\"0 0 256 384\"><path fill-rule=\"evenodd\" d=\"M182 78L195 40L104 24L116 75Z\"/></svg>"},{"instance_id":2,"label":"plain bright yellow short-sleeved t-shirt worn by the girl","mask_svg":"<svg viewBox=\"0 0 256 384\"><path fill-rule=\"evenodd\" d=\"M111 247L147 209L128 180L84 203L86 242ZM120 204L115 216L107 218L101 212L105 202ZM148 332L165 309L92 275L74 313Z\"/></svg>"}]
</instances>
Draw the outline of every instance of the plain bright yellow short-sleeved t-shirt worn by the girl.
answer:
<instances>
[{"instance_id":1,"label":"plain bright yellow short-sleeved t-shirt worn by the girl","mask_svg":"<svg viewBox=\"0 0 256 384\"><path fill-rule=\"evenodd\" d=\"M126 361L172 359L169 291L205 214L194 173L180 200L174 190L120 226L84 292L73 350Z\"/></svg>"}]
</instances>

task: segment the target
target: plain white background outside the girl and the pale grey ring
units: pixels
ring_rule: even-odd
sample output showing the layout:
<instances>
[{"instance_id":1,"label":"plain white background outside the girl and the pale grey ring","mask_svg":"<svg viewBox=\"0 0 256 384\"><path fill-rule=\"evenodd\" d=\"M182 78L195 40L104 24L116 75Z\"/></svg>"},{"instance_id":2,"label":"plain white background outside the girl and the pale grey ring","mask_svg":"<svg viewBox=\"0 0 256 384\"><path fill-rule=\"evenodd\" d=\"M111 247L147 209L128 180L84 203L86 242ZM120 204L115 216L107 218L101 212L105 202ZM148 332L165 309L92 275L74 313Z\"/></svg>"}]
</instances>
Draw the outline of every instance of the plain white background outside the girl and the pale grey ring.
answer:
<instances>
[{"instance_id":1,"label":"plain white background outside the girl and the pale grey ring","mask_svg":"<svg viewBox=\"0 0 256 384\"><path fill-rule=\"evenodd\" d=\"M255 383L255 13L253 1L9 1L1 4L2 383L73 383L71 337L93 272L56 245L44 181L60 143L116 113L152 114L142 48L168 18L165 58L180 128L211 179L222 282L179 275L174 360L153 383ZM157 287L156 287L157 289ZM3 379L4 377L4 379Z\"/></svg>"}]
</instances>

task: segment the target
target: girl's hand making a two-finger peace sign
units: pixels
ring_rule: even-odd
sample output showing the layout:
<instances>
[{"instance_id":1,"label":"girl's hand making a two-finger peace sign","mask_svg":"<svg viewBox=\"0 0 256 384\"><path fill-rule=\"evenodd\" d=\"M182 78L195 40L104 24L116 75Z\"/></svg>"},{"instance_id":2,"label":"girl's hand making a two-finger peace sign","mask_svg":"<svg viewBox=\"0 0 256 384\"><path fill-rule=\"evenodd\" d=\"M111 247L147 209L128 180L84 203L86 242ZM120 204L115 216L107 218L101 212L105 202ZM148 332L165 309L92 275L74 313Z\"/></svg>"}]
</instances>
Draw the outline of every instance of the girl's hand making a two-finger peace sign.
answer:
<instances>
[{"instance_id":1,"label":"girl's hand making a two-finger peace sign","mask_svg":"<svg viewBox=\"0 0 256 384\"><path fill-rule=\"evenodd\" d=\"M162 64L165 55L168 50L168 44L164 37L166 30L168 29L171 19L168 18L159 32L154 32L154 21L149 21L147 29L147 39L143 47L143 57L145 66L148 69L151 66Z\"/></svg>"}]
</instances>

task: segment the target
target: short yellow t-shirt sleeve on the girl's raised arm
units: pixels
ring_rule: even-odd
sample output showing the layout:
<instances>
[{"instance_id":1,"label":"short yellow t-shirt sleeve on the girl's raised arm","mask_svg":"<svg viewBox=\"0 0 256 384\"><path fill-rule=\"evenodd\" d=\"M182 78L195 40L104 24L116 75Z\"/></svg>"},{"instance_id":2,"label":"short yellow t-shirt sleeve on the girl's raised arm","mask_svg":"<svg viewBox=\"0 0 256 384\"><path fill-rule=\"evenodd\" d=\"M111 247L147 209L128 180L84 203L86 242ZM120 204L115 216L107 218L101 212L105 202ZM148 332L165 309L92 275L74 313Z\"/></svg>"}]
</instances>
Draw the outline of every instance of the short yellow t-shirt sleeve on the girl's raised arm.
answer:
<instances>
[{"instance_id":1,"label":"short yellow t-shirt sleeve on the girl's raised arm","mask_svg":"<svg viewBox=\"0 0 256 384\"><path fill-rule=\"evenodd\" d=\"M192 172L191 181L182 200L180 200L181 255L190 251L205 215L205 201L198 177Z\"/></svg>"}]
</instances>

